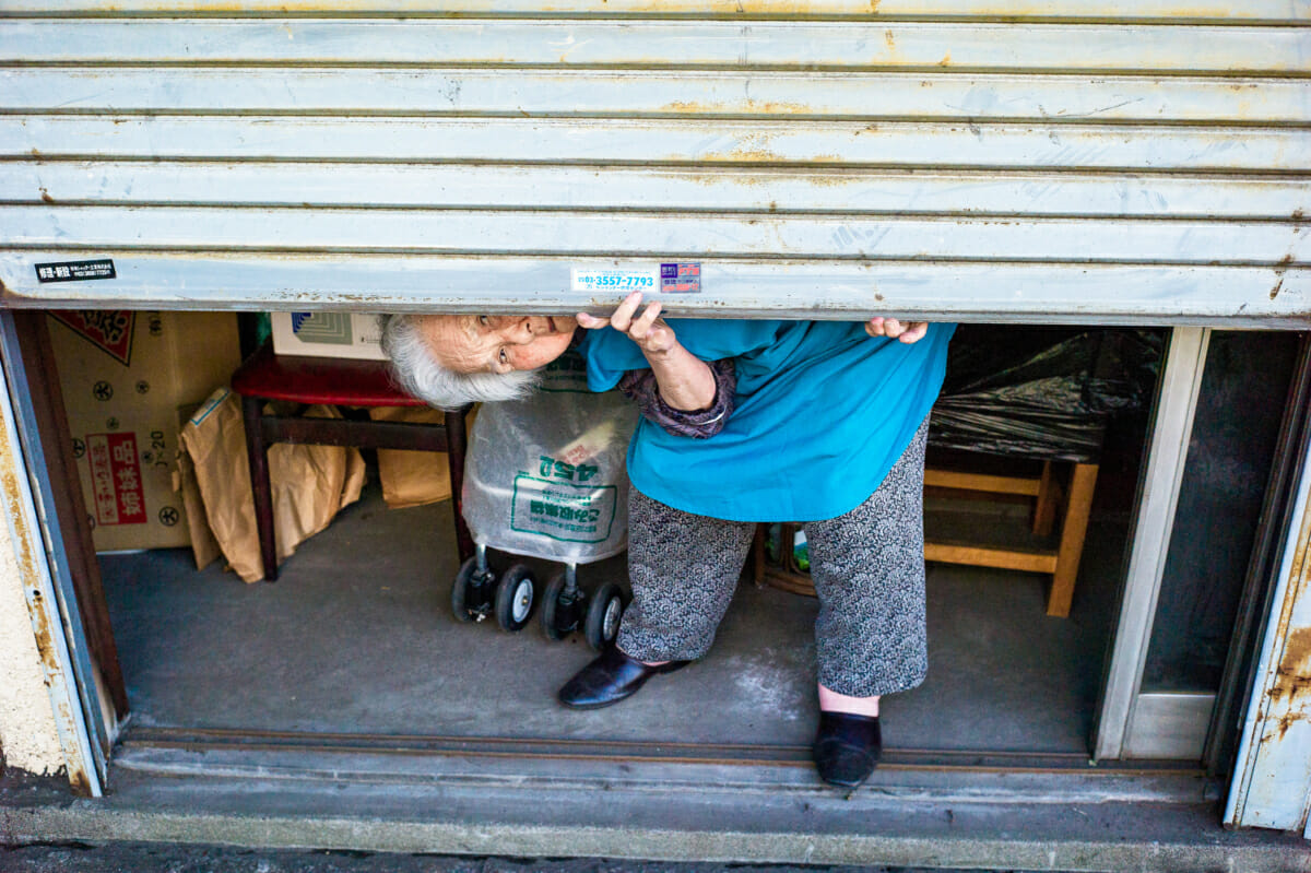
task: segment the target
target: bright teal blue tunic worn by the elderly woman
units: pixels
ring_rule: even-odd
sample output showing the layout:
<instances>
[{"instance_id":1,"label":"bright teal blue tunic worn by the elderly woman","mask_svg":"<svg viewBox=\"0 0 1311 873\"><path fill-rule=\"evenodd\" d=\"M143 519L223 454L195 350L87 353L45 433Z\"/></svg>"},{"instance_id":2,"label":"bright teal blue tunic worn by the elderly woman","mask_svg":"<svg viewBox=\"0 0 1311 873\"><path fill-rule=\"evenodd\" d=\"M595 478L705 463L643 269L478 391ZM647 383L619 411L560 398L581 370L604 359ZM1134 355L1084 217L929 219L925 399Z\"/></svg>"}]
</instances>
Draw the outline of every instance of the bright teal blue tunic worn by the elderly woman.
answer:
<instances>
[{"instance_id":1,"label":"bright teal blue tunic worn by the elderly woman","mask_svg":"<svg viewBox=\"0 0 1311 873\"><path fill-rule=\"evenodd\" d=\"M674 509L734 522L835 518L860 506L910 444L943 385L956 329L929 325L915 343L872 338L847 321L671 319L701 360L733 358L737 406L709 439L641 418L628 477ZM617 330L591 330L579 351L587 387L608 391L648 367Z\"/></svg>"}]
</instances>

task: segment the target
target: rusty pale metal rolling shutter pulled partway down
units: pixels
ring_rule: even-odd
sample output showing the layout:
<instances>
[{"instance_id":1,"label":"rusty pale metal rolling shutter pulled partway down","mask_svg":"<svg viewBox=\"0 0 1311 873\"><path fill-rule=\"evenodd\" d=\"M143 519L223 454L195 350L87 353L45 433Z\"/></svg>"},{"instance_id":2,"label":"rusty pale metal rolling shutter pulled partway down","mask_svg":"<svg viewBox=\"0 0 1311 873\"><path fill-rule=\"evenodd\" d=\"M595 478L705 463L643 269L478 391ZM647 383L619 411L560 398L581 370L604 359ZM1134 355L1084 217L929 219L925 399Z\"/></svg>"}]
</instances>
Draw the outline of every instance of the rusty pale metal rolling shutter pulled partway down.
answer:
<instances>
[{"instance_id":1,"label":"rusty pale metal rolling shutter pulled partway down","mask_svg":"<svg viewBox=\"0 0 1311 873\"><path fill-rule=\"evenodd\" d=\"M1306 0L8 0L3 304L568 311L573 267L684 261L674 303L709 313L1304 325L1308 26Z\"/></svg>"}]
</instances>

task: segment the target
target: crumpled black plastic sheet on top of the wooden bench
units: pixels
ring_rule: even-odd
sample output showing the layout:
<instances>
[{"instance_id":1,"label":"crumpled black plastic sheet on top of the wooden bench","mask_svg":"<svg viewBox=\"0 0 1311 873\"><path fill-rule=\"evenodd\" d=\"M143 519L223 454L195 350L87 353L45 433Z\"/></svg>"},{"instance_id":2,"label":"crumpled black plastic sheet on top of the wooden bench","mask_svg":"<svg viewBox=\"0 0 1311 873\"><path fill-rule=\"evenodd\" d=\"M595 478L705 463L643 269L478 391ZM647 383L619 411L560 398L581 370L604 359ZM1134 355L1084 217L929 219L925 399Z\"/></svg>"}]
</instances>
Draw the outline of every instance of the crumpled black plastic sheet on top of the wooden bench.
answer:
<instances>
[{"instance_id":1,"label":"crumpled black plastic sheet on top of the wooden bench","mask_svg":"<svg viewBox=\"0 0 1311 873\"><path fill-rule=\"evenodd\" d=\"M961 325L929 444L1096 463L1109 418L1151 402L1163 345L1146 329Z\"/></svg>"}]
</instances>

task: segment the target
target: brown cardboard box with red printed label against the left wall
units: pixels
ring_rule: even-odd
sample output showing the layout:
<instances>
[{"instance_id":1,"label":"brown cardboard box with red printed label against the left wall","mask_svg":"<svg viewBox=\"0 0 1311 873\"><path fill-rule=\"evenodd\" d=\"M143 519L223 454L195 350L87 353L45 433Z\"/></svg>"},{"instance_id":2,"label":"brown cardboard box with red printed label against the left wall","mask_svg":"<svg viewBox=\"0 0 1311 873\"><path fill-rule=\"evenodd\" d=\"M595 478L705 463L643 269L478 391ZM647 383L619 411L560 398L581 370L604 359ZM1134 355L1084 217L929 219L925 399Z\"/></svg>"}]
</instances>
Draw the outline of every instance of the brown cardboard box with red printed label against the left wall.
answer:
<instances>
[{"instance_id":1,"label":"brown cardboard box with red printed label against the left wall","mask_svg":"<svg viewBox=\"0 0 1311 873\"><path fill-rule=\"evenodd\" d=\"M191 545L177 412L240 364L236 315L52 312L50 341L96 551Z\"/></svg>"}]
</instances>

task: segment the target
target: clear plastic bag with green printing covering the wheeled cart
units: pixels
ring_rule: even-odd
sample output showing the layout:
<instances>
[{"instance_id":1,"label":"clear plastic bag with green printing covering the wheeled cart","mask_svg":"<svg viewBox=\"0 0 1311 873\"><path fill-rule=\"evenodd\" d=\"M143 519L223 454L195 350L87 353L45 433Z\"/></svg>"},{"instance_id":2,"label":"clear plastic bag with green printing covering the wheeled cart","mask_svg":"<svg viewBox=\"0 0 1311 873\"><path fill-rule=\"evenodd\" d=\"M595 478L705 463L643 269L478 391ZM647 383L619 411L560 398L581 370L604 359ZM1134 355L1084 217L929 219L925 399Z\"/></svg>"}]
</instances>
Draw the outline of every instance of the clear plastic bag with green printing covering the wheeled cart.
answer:
<instances>
[{"instance_id":1,"label":"clear plastic bag with green printing covering the wheeled cart","mask_svg":"<svg viewBox=\"0 0 1311 873\"><path fill-rule=\"evenodd\" d=\"M473 540L515 554L589 564L628 547L628 439L637 408L587 391L569 351L526 400L485 404L465 459Z\"/></svg>"}]
</instances>

